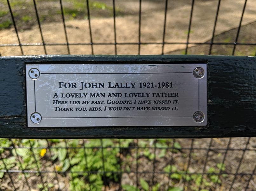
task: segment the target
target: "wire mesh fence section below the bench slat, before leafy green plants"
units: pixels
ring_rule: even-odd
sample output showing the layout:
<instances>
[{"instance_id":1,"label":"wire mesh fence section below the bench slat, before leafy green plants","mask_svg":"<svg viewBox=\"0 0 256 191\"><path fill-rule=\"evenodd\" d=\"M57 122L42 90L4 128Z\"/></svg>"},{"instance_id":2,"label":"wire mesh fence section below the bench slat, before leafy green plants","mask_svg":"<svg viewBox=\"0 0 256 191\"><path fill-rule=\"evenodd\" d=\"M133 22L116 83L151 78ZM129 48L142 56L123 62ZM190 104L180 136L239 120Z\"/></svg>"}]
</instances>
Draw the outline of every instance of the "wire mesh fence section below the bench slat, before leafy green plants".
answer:
<instances>
[{"instance_id":1,"label":"wire mesh fence section below the bench slat, before leafy green plants","mask_svg":"<svg viewBox=\"0 0 256 191\"><path fill-rule=\"evenodd\" d=\"M255 138L0 139L2 190L255 190Z\"/></svg>"}]
</instances>

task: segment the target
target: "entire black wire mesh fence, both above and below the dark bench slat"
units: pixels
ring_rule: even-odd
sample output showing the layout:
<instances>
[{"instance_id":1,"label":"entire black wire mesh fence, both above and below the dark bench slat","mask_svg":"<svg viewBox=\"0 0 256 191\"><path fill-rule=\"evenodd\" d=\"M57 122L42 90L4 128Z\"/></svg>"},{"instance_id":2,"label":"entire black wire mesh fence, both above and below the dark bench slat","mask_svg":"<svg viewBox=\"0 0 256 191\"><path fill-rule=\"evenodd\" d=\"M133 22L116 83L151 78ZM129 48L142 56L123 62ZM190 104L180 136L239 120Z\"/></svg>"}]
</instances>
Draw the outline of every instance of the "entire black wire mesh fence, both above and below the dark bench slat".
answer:
<instances>
[{"instance_id":1,"label":"entire black wire mesh fence, both above and below the dark bench slat","mask_svg":"<svg viewBox=\"0 0 256 191\"><path fill-rule=\"evenodd\" d=\"M0 55L256 53L254 0L0 0ZM255 138L0 139L0 190L255 190Z\"/></svg>"}]
</instances>

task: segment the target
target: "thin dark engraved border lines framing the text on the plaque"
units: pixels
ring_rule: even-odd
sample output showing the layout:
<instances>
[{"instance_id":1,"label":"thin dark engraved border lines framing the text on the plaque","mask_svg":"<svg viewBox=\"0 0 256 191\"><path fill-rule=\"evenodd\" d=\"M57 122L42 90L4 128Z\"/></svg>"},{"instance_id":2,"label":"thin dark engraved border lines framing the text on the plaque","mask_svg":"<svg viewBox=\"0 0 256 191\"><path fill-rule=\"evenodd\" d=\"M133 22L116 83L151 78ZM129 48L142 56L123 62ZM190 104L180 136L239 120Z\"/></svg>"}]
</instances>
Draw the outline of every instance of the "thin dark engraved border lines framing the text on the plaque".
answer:
<instances>
[{"instance_id":1,"label":"thin dark engraved border lines framing the text on the plaque","mask_svg":"<svg viewBox=\"0 0 256 191\"><path fill-rule=\"evenodd\" d=\"M134 72L134 73L129 73L129 72L121 72L121 73L77 73L77 72L69 72L69 73L62 73L62 72L56 72L56 73L41 73L41 74L192 74L193 72ZM34 94L35 94L35 112L36 112L36 86L35 86L35 81L34 80ZM200 105L200 79L198 79L198 110L199 105ZM135 117L42 117L42 119L92 119L92 118L193 118L193 116L135 116Z\"/></svg>"}]
</instances>

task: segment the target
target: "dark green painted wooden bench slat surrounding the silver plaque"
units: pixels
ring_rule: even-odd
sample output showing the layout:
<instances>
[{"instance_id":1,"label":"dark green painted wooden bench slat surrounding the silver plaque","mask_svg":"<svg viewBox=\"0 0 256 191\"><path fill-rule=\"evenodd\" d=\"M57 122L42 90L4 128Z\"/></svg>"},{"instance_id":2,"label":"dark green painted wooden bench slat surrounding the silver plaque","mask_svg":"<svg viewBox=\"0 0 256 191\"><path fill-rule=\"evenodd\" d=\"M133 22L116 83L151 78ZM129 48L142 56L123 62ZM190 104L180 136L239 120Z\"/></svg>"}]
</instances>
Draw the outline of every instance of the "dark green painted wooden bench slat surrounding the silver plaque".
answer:
<instances>
[{"instance_id":1,"label":"dark green painted wooden bench slat surrounding the silver plaque","mask_svg":"<svg viewBox=\"0 0 256 191\"><path fill-rule=\"evenodd\" d=\"M25 64L207 64L206 126L28 127ZM0 57L0 137L202 138L256 136L256 58L198 55Z\"/></svg>"}]
</instances>

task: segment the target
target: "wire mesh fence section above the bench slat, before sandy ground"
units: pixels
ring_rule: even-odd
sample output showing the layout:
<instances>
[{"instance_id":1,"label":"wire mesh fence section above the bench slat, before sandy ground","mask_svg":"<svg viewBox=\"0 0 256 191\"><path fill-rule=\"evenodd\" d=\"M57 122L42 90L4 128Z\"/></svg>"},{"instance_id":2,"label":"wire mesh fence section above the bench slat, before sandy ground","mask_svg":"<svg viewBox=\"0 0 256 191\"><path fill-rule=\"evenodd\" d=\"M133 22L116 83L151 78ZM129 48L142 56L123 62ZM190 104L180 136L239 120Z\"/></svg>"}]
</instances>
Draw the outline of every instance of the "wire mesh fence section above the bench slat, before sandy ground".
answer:
<instances>
[{"instance_id":1,"label":"wire mesh fence section above the bench slat, before sandy ground","mask_svg":"<svg viewBox=\"0 0 256 191\"><path fill-rule=\"evenodd\" d=\"M2 55L256 53L253 0L1 0L1 7Z\"/></svg>"}]
</instances>

